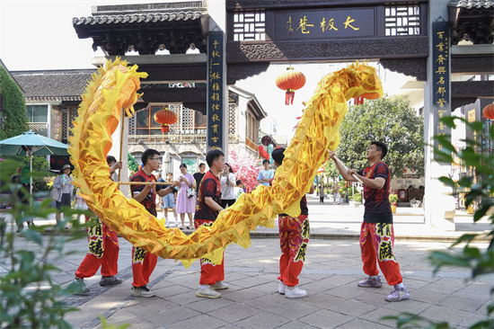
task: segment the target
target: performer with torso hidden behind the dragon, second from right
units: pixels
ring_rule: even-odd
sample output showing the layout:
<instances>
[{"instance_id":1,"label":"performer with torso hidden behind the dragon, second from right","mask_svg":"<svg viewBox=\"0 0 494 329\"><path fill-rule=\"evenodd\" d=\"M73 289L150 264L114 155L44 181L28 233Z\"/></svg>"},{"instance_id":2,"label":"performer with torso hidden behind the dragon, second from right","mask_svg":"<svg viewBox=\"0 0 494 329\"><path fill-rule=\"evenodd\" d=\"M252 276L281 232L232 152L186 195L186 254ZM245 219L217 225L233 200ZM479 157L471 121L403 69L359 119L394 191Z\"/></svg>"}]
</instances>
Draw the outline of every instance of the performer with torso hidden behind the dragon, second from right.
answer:
<instances>
[{"instance_id":1,"label":"performer with torso hidden behind the dragon, second from right","mask_svg":"<svg viewBox=\"0 0 494 329\"><path fill-rule=\"evenodd\" d=\"M283 163L284 152L285 148L281 147L273 150L271 154L277 167ZM313 193L313 184L309 192ZM281 248L278 292L287 298L300 298L307 295L305 290L298 288L298 275L304 267L310 236L309 209L305 195L300 200L300 210L298 217L290 217L287 214L278 215L279 246Z\"/></svg>"}]
</instances>

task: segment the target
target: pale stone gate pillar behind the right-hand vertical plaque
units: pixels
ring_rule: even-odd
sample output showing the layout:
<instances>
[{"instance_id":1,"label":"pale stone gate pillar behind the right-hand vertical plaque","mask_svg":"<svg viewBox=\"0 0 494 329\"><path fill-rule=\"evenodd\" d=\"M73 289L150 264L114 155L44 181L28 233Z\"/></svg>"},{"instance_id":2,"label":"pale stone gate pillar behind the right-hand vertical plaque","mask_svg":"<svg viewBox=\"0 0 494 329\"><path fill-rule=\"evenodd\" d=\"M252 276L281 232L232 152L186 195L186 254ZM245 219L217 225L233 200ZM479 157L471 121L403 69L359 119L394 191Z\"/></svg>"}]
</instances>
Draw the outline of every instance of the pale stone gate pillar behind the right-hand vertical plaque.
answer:
<instances>
[{"instance_id":1,"label":"pale stone gate pillar behind the right-hand vertical plaque","mask_svg":"<svg viewBox=\"0 0 494 329\"><path fill-rule=\"evenodd\" d=\"M451 195L453 190L446 187L437 179L440 176L448 176L451 173L451 164L440 164L434 160L434 93L436 86L433 85L434 61L432 57L433 38L432 38L432 23L442 17L445 21L448 19L447 4L449 0L435 0L428 2L428 79L424 84L424 138L428 145L425 147L425 184L426 191L424 197L424 209L426 224L432 227L437 227L443 230L454 230L454 198ZM450 40L448 40L450 44ZM451 60L448 60L449 69L451 72ZM451 91L451 82L448 85L448 90ZM451 93L449 93L451 95ZM451 103L451 96L449 96ZM449 114L448 114L449 115ZM430 145L430 146L429 146Z\"/></svg>"}]
</instances>

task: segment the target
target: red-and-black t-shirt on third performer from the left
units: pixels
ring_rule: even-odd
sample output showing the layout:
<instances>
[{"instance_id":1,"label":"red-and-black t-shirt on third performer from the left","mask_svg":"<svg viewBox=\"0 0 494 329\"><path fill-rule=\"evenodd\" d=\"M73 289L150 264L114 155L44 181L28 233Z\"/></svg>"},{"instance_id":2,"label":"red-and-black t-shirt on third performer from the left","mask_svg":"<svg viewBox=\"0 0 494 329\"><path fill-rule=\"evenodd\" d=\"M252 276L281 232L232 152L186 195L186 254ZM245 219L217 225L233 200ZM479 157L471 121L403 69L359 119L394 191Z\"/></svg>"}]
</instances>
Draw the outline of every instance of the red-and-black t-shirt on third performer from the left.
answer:
<instances>
[{"instance_id":1,"label":"red-and-black t-shirt on third performer from the left","mask_svg":"<svg viewBox=\"0 0 494 329\"><path fill-rule=\"evenodd\" d=\"M213 198L217 204L221 204L221 184L214 173L208 171L200 182L198 190L198 205L194 219L216 220L219 211L210 209L206 204L206 197Z\"/></svg>"}]
</instances>

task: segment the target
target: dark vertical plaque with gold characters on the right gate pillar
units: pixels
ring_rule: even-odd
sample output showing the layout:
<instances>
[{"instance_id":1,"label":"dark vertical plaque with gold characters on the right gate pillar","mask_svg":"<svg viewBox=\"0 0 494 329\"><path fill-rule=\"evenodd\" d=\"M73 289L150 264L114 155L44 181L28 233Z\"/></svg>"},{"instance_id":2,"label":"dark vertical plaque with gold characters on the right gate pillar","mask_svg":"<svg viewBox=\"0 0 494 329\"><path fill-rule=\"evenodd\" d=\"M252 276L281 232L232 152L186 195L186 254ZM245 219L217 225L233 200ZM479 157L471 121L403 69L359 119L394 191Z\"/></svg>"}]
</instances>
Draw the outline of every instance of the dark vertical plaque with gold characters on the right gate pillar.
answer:
<instances>
[{"instance_id":1,"label":"dark vertical plaque with gold characters on the right gate pillar","mask_svg":"<svg viewBox=\"0 0 494 329\"><path fill-rule=\"evenodd\" d=\"M451 129L442 122L444 116L451 115L451 90L449 66L449 26L448 22L432 23L432 111L434 111L434 136L450 136ZM434 148L443 145L434 140ZM437 158L435 152L434 158Z\"/></svg>"}]
</instances>

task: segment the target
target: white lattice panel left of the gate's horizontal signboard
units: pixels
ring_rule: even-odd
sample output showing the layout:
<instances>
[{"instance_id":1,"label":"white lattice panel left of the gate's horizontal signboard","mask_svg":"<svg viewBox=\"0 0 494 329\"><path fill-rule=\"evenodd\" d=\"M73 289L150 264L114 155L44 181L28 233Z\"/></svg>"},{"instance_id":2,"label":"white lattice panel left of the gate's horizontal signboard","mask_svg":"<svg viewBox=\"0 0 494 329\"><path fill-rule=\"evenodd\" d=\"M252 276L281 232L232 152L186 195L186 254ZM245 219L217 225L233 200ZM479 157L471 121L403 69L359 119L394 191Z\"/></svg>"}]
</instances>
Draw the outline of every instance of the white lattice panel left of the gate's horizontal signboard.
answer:
<instances>
[{"instance_id":1,"label":"white lattice panel left of the gate's horizontal signboard","mask_svg":"<svg viewBox=\"0 0 494 329\"><path fill-rule=\"evenodd\" d=\"M238 11L234 13L234 41L266 40L266 14L264 11Z\"/></svg>"}]
</instances>

